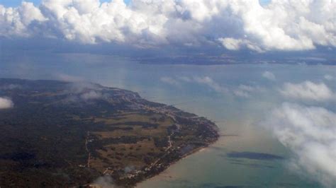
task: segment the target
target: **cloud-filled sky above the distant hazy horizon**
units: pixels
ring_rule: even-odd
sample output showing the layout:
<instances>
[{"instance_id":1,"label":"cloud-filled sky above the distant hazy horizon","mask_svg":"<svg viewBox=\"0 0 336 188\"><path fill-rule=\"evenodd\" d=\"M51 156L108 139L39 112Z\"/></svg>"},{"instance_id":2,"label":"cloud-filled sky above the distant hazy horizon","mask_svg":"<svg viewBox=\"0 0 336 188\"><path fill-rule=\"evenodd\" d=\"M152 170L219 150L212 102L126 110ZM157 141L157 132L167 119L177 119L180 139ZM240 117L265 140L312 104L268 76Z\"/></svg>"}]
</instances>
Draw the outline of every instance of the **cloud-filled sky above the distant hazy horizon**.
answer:
<instances>
[{"instance_id":1,"label":"cloud-filled sky above the distant hazy horizon","mask_svg":"<svg viewBox=\"0 0 336 188\"><path fill-rule=\"evenodd\" d=\"M295 54L308 63L335 63L336 3L330 0L2 0L0 4L4 50L17 49L13 44L61 51L72 46L184 60L186 55L202 56L209 64L252 57L290 61Z\"/></svg>"}]
</instances>

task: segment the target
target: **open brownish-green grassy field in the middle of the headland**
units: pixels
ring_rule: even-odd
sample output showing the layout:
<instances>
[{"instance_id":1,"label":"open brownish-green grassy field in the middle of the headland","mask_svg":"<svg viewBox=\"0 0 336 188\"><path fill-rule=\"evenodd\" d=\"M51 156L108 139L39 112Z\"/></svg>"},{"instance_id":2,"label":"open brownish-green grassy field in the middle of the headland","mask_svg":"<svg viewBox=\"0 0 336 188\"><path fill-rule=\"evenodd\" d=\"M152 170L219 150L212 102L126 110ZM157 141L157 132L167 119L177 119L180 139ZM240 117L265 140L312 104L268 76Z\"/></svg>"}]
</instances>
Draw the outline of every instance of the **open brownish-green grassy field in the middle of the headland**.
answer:
<instances>
[{"instance_id":1,"label":"open brownish-green grassy field in the middle of the headland","mask_svg":"<svg viewBox=\"0 0 336 188\"><path fill-rule=\"evenodd\" d=\"M106 171L111 167L124 171L145 168L164 152L165 147L155 146L155 138L169 136L167 128L174 124L170 117L143 112L121 112L111 117L95 118L94 122L106 126L106 131L90 132L100 141L123 136L137 139L136 143L106 143L97 150L99 157L91 158L89 165L99 172L111 172ZM110 128L113 131L109 131Z\"/></svg>"}]
</instances>

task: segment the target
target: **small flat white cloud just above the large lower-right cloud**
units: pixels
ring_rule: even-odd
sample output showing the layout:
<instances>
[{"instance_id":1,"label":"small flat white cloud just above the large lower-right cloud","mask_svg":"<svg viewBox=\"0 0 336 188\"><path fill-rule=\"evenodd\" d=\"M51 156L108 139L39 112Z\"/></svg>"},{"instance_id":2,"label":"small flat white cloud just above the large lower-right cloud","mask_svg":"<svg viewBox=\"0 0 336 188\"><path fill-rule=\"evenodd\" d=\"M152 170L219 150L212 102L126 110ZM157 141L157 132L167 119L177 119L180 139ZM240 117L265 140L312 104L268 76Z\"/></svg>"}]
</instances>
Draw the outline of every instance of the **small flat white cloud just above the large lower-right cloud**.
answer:
<instances>
[{"instance_id":1,"label":"small flat white cloud just above the large lower-right cloud","mask_svg":"<svg viewBox=\"0 0 336 188\"><path fill-rule=\"evenodd\" d=\"M335 100L336 96L325 83L313 83L311 81L284 83L280 93L288 98L315 101Z\"/></svg>"}]
</instances>

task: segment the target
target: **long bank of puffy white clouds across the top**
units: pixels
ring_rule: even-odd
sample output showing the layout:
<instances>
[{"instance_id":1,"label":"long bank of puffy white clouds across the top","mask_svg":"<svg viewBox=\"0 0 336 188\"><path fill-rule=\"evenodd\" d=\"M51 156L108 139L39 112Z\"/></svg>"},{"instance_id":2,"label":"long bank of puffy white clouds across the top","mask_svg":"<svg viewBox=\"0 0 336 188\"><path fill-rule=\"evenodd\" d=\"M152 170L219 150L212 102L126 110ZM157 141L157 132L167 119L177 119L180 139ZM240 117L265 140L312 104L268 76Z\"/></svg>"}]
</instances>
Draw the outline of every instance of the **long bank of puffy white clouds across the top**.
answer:
<instances>
[{"instance_id":1,"label":"long bank of puffy white clouds across the top","mask_svg":"<svg viewBox=\"0 0 336 188\"><path fill-rule=\"evenodd\" d=\"M226 49L306 50L336 46L336 2L44 0L0 6L0 35L57 37L139 47L223 45Z\"/></svg>"}]
</instances>

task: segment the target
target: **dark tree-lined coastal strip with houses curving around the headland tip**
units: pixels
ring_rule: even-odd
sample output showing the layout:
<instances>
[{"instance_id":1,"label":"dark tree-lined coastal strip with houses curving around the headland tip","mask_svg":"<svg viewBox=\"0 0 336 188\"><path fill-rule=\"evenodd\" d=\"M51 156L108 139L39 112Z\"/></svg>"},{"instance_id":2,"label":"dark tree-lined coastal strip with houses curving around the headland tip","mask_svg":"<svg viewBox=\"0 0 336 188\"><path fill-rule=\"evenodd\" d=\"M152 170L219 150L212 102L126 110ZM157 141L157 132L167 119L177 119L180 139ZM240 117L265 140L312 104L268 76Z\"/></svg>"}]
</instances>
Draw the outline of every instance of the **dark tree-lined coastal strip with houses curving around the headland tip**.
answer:
<instances>
[{"instance_id":1,"label":"dark tree-lined coastal strip with houses curving around the headland tip","mask_svg":"<svg viewBox=\"0 0 336 188\"><path fill-rule=\"evenodd\" d=\"M142 102L145 102L145 105ZM161 106L153 107L153 105L148 105L147 102L149 102L150 104L156 104ZM148 100L144 100L140 97L140 95L138 95L138 99L135 99L135 103L140 104L139 107L142 109L165 114L169 117L172 117L175 124L177 124L177 130L173 131L172 134L170 134L170 146L167 148L165 154L162 155L162 157L156 160L154 163L149 165L147 168L130 174L128 175L128 177L123 178L120 182L117 182L117 184L121 186L136 187L136 185L140 182L149 180L152 177L155 177L160 173L164 172L164 170L167 170L167 168L169 168L171 165L174 165L174 163L177 163L179 160L184 159L187 156L192 155L198 151L201 151L204 148L207 148L211 144L218 141L220 137L218 126L214 122L211 122L211 120L206 119L205 117L198 117L198 115L196 114L184 112L183 110L179 110L177 107L173 107L171 105L165 105L159 102L150 102ZM193 127L192 129L201 129L198 135L198 139L196 139L195 141L186 141L182 144L179 143L180 145L173 146L175 145L174 139L170 141L170 137L172 137L176 133L179 133L179 127Z\"/></svg>"}]
</instances>

